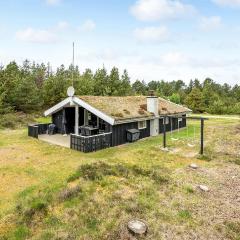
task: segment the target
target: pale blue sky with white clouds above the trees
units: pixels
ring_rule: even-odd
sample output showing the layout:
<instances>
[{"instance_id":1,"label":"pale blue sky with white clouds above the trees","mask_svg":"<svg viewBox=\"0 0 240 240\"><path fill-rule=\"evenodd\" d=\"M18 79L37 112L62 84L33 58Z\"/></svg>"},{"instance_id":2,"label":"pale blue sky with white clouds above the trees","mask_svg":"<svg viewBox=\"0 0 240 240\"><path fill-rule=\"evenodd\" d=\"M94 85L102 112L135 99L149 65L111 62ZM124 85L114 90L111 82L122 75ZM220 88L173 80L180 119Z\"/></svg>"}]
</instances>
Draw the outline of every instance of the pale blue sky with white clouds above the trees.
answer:
<instances>
[{"instance_id":1,"label":"pale blue sky with white clouds above the trees","mask_svg":"<svg viewBox=\"0 0 240 240\"><path fill-rule=\"evenodd\" d=\"M240 0L0 0L0 63L240 83Z\"/></svg>"}]
</instances>

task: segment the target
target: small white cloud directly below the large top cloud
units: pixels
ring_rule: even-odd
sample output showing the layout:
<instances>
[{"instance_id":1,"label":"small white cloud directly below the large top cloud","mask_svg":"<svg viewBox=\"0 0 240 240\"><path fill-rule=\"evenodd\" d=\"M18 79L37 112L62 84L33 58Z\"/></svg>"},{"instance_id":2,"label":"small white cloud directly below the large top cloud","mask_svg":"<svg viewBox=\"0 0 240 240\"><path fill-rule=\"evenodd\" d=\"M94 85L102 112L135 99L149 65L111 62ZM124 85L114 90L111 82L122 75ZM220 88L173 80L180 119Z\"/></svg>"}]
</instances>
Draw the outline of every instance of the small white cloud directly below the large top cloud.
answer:
<instances>
[{"instance_id":1,"label":"small white cloud directly below the large top cloud","mask_svg":"<svg viewBox=\"0 0 240 240\"><path fill-rule=\"evenodd\" d=\"M135 38L140 42L164 42L169 37L168 29L165 26L144 27L134 30Z\"/></svg>"}]
</instances>

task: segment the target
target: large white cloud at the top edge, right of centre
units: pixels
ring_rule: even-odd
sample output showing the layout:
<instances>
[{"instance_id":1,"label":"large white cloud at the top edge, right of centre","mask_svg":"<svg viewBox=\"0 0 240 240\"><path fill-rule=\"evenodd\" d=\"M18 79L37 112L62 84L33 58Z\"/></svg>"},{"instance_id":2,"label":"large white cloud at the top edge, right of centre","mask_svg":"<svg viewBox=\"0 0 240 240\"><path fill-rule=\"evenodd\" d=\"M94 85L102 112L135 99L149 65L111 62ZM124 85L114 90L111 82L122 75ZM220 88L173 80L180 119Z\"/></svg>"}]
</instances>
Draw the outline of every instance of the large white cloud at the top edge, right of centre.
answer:
<instances>
[{"instance_id":1,"label":"large white cloud at the top edge, right of centre","mask_svg":"<svg viewBox=\"0 0 240 240\"><path fill-rule=\"evenodd\" d=\"M195 12L195 8L179 0L138 0L130 11L141 21L156 21L183 17Z\"/></svg>"}]
</instances>

